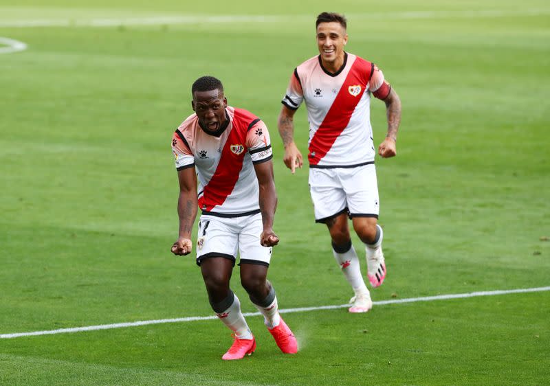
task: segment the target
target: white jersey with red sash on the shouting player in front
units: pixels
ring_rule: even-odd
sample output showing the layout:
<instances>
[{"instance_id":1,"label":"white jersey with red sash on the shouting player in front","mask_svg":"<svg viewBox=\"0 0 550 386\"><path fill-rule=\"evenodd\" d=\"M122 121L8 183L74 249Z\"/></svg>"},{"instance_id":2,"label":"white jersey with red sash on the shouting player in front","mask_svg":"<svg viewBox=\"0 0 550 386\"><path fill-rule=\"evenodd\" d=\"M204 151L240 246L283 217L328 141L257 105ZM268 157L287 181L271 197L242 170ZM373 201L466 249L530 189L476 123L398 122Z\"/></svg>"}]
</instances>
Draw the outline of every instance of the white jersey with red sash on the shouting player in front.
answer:
<instances>
[{"instance_id":1,"label":"white jersey with red sash on the shouting player in front","mask_svg":"<svg viewBox=\"0 0 550 386\"><path fill-rule=\"evenodd\" d=\"M199 209L212 216L260 213L254 163L272 159L270 133L256 115L228 106L228 125L214 135L190 115L175 131L172 150L177 170L195 166Z\"/></svg>"}]
</instances>

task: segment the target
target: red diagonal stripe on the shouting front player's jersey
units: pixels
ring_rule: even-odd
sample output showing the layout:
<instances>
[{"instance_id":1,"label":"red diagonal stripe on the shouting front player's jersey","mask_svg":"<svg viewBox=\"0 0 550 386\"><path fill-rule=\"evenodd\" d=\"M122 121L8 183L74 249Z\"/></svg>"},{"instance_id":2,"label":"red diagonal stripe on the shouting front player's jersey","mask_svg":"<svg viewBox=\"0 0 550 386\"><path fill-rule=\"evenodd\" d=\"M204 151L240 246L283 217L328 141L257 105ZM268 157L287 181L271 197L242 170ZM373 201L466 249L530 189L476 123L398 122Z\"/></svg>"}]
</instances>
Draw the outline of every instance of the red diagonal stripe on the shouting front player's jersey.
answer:
<instances>
[{"instance_id":1,"label":"red diagonal stripe on the shouting front player's jersey","mask_svg":"<svg viewBox=\"0 0 550 386\"><path fill-rule=\"evenodd\" d=\"M199 198L199 208L202 210L210 211L216 205L223 204L225 198L228 198L235 188L236 181L239 180L239 174L243 168L243 159L248 151L245 137L239 128L234 120L231 133L229 133L228 139L221 150L218 167L204 187L201 198ZM231 151L231 145L242 145L243 151L237 155Z\"/></svg>"}]
</instances>

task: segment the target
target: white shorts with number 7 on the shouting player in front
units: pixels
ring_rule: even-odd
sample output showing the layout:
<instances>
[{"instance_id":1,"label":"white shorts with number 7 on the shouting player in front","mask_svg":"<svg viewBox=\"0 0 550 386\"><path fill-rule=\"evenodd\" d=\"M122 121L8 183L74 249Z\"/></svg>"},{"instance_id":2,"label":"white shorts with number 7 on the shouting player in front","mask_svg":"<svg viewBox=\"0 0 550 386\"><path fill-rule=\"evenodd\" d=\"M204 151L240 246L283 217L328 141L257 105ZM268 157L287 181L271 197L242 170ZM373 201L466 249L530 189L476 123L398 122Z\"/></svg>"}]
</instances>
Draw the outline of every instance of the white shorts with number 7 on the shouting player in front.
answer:
<instances>
[{"instance_id":1,"label":"white shorts with number 7 on the shouting player in front","mask_svg":"<svg viewBox=\"0 0 550 386\"><path fill-rule=\"evenodd\" d=\"M262 215L219 217L202 215L197 234L197 265L206 258L221 257L235 264L239 251L240 264L270 265L272 247L260 244Z\"/></svg>"}]
</instances>

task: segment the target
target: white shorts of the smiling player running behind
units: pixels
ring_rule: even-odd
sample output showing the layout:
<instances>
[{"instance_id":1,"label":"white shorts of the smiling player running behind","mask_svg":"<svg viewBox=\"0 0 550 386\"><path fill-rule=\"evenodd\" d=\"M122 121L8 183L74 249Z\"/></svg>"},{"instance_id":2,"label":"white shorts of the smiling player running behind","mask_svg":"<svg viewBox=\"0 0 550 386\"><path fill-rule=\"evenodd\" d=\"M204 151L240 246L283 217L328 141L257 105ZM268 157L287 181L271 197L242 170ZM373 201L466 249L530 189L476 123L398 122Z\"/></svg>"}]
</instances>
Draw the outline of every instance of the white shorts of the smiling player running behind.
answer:
<instances>
[{"instance_id":1,"label":"white shorts of the smiling player running behind","mask_svg":"<svg viewBox=\"0 0 550 386\"><path fill-rule=\"evenodd\" d=\"M309 192L316 223L347 213L378 218L378 183L374 163L355 168L310 168Z\"/></svg>"}]
</instances>

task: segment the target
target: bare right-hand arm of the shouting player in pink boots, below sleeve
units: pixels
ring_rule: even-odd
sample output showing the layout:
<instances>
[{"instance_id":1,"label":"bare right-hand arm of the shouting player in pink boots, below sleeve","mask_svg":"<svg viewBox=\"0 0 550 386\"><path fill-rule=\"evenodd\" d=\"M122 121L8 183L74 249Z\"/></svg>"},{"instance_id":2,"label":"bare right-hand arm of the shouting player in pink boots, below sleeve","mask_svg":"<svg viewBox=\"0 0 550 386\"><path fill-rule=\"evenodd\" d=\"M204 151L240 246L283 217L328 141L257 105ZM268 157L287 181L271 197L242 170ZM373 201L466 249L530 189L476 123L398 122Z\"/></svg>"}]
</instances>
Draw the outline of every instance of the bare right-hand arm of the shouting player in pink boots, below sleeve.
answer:
<instances>
[{"instance_id":1,"label":"bare right-hand arm of the shouting player in pink boots, below sleeve","mask_svg":"<svg viewBox=\"0 0 550 386\"><path fill-rule=\"evenodd\" d=\"M273 162L265 161L254 164L256 177L260 188L259 203L262 214L263 232L260 236L261 245L273 247L279 238L273 231L273 220L277 208L277 192L273 176Z\"/></svg>"}]
</instances>

